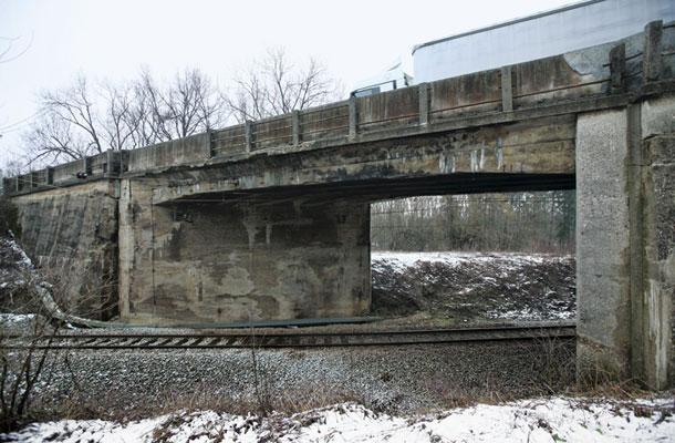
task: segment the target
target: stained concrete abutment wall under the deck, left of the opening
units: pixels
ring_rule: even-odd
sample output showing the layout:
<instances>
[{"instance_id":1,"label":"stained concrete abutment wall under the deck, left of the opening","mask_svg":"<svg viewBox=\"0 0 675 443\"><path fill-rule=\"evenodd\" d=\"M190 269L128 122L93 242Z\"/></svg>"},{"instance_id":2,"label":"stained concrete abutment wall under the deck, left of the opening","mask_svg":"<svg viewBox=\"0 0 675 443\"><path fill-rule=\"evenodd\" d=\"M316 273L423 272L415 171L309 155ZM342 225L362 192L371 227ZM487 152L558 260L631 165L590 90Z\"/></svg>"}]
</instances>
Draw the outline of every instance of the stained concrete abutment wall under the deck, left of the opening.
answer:
<instances>
[{"instance_id":1,"label":"stained concrete abutment wall under the deck, left of the opening","mask_svg":"<svg viewBox=\"0 0 675 443\"><path fill-rule=\"evenodd\" d=\"M121 311L188 324L367 315L370 208L359 202L154 205L123 181Z\"/></svg>"}]
</instances>

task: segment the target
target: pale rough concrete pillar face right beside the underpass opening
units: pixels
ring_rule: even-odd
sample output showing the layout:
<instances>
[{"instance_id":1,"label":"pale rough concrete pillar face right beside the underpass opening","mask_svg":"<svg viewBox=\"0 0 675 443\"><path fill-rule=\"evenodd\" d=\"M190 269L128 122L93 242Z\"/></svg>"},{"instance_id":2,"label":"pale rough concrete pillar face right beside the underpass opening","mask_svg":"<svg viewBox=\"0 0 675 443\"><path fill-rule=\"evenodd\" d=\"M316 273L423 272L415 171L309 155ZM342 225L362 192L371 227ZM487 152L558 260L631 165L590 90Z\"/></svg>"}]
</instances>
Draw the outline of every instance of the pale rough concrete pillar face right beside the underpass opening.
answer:
<instances>
[{"instance_id":1,"label":"pale rough concrete pillar face right beside the underpass opening","mask_svg":"<svg viewBox=\"0 0 675 443\"><path fill-rule=\"evenodd\" d=\"M623 375L631 343L626 133L625 109L577 123L578 354L582 365Z\"/></svg>"}]
</instances>

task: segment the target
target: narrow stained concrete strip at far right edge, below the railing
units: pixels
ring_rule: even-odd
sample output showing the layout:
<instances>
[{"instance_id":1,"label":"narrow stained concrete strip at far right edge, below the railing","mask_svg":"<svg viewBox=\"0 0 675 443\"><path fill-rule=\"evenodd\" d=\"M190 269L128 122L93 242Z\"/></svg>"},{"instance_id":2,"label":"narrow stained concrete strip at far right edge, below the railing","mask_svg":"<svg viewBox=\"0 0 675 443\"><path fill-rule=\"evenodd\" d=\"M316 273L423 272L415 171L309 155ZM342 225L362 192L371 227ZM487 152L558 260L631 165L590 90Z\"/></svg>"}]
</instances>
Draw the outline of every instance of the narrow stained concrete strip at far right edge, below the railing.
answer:
<instances>
[{"instance_id":1,"label":"narrow stained concrete strip at far right edge, below the railing","mask_svg":"<svg viewBox=\"0 0 675 443\"><path fill-rule=\"evenodd\" d=\"M675 96L642 104L644 378L675 385Z\"/></svg>"}]
</instances>

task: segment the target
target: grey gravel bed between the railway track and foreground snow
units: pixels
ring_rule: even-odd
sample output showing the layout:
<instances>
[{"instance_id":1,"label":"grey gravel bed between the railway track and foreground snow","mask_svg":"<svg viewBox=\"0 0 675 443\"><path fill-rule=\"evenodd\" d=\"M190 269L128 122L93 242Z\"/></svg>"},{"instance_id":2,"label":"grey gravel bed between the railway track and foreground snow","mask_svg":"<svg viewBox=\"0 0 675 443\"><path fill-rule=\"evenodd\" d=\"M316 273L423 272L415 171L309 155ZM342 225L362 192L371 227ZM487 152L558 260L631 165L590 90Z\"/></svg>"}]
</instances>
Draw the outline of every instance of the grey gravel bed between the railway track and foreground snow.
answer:
<instances>
[{"instance_id":1,"label":"grey gravel bed between the railway track and foreground snow","mask_svg":"<svg viewBox=\"0 0 675 443\"><path fill-rule=\"evenodd\" d=\"M48 405L74 401L115 416L256 408L260 399L290 412L355 400L407 414L550 393L573 380L573 352L569 341L256 350L256 373L247 349L60 351L38 391Z\"/></svg>"}]
</instances>

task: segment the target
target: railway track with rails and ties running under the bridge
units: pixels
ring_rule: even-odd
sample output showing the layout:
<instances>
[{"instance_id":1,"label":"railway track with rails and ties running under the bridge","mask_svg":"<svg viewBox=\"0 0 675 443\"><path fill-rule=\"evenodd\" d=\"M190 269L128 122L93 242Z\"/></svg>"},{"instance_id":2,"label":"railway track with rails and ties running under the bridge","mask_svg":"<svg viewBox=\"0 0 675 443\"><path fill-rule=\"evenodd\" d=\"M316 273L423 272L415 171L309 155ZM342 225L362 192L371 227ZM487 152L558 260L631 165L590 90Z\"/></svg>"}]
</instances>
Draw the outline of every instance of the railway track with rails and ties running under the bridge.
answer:
<instances>
[{"instance_id":1,"label":"railway track with rails and ties running under the bridge","mask_svg":"<svg viewBox=\"0 0 675 443\"><path fill-rule=\"evenodd\" d=\"M253 331L257 332L257 331ZM51 337L4 337L0 348L24 349L238 349L384 347L507 340L574 339L573 323L547 326L427 329L361 332L285 333L189 333L189 334L58 334Z\"/></svg>"}]
</instances>

